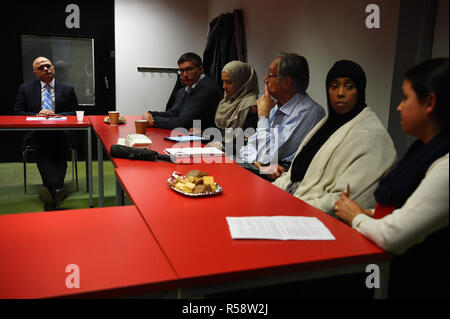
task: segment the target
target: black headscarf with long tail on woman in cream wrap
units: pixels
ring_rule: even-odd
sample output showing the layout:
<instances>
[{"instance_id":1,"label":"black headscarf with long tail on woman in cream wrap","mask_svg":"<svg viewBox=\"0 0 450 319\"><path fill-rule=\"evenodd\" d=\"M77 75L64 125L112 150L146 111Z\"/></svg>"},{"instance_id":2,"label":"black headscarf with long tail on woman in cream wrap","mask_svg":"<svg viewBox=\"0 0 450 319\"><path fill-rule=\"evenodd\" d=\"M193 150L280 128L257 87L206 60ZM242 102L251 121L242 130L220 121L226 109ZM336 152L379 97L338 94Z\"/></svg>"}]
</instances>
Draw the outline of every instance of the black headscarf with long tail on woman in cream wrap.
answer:
<instances>
[{"instance_id":1,"label":"black headscarf with long tail on woman in cream wrap","mask_svg":"<svg viewBox=\"0 0 450 319\"><path fill-rule=\"evenodd\" d=\"M331 81L337 78L351 79L353 83L355 83L358 91L358 99L355 107L346 114L337 113L330 105L328 88ZM328 71L325 87L327 92L328 119L295 157L291 171L291 181L293 183L303 180L312 159L329 137L342 125L352 120L367 106L365 91L366 75L364 70L353 61L341 60L336 62L330 71Z\"/></svg>"}]
</instances>

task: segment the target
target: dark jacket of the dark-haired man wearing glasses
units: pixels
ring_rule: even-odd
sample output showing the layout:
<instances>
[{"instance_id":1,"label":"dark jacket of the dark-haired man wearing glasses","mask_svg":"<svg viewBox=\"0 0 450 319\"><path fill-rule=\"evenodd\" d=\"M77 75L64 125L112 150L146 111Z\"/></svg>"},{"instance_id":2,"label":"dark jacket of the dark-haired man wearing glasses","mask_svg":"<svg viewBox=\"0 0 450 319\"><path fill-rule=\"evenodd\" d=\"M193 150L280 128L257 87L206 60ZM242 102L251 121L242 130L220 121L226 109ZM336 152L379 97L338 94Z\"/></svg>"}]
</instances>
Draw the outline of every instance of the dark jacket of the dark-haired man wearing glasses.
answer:
<instances>
[{"instance_id":1,"label":"dark jacket of the dark-haired man wearing glasses","mask_svg":"<svg viewBox=\"0 0 450 319\"><path fill-rule=\"evenodd\" d=\"M197 82L193 92L186 92L185 87L179 89L174 106L169 111L151 114L156 125L161 128L190 129L193 127L193 120L201 120L202 129L215 127L214 117L222 97L222 90L213 80L205 76Z\"/></svg>"}]
</instances>

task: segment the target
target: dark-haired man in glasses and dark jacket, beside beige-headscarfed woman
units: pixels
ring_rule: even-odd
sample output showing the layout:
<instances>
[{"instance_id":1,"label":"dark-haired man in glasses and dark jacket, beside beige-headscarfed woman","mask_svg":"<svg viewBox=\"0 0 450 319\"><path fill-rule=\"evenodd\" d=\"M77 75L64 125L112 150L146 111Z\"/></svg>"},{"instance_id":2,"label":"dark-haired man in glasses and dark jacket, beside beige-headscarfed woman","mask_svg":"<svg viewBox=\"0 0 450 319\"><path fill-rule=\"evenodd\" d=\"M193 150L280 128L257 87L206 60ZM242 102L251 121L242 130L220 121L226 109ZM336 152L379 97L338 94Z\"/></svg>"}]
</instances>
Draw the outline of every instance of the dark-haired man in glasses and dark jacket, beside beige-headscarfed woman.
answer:
<instances>
[{"instance_id":1,"label":"dark-haired man in glasses and dark jacket, beside beige-headscarfed woman","mask_svg":"<svg viewBox=\"0 0 450 319\"><path fill-rule=\"evenodd\" d=\"M166 112L145 112L142 118L149 122L148 126L166 129L190 129L194 120L201 120L203 128L215 127L222 89L203 73L202 59L197 54L183 54L178 59L178 67L184 87L178 90L173 107Z\"/></svg>"}]
</instances>

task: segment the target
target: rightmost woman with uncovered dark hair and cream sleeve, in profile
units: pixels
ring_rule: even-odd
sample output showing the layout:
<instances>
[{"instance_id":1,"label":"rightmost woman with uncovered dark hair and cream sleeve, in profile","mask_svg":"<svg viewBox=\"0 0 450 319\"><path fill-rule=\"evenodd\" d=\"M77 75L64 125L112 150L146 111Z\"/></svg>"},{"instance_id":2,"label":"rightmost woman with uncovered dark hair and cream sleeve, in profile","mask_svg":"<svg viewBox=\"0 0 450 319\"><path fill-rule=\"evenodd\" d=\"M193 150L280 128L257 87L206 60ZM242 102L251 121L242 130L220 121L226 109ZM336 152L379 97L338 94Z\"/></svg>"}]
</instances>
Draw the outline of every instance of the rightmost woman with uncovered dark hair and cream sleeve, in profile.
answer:
<instances>
[{"instance_id":1,"label":"rightmost woman with uncovered dark hair and cream sleeve, in profile","mask_svg":"<svg viewBox=\"0 0 450 319\"><path fill-rule=\"evenodd\" d=\"M417 140L381 180L375 210L345 193L335 203L340 219L400 254L392 261L390 297L448 298L448 71L449 59L439 58L406 72L397 111L403 131Z\"/></svg>"}]
</instances>

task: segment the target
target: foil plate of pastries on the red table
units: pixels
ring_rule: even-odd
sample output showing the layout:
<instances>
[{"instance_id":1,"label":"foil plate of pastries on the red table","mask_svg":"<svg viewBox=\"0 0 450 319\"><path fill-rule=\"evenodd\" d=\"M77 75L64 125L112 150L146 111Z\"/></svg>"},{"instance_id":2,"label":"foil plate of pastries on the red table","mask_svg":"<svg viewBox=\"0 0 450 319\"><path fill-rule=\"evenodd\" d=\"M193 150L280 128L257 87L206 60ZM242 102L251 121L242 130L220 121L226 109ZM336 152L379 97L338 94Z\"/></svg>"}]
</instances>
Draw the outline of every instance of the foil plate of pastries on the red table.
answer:
<instances>
[{"instance_id":1,"label":"foil plate of pastries on the red table","mask_svg":"<svg viewBox=\"0 0 450 319\"><path fill-rule=\"evenodd\" d=\"M191 170L185 176L173 172L167 180L175 192L189 197L214 196L222 193L222 187L216 183L214 176L200 170Z\"/></svg>"}]
</instances>

